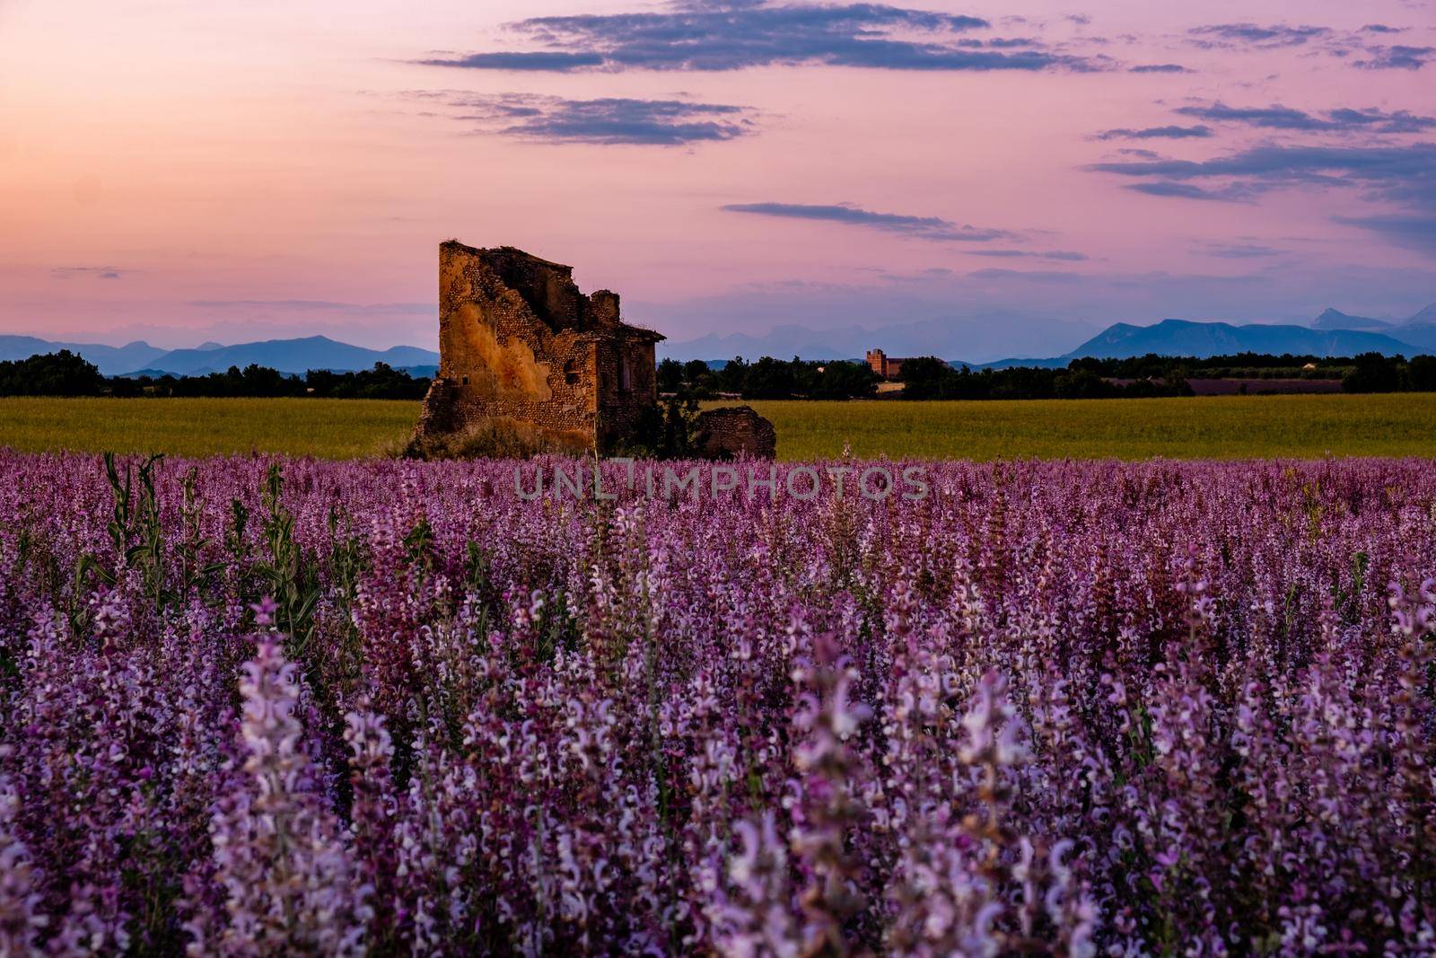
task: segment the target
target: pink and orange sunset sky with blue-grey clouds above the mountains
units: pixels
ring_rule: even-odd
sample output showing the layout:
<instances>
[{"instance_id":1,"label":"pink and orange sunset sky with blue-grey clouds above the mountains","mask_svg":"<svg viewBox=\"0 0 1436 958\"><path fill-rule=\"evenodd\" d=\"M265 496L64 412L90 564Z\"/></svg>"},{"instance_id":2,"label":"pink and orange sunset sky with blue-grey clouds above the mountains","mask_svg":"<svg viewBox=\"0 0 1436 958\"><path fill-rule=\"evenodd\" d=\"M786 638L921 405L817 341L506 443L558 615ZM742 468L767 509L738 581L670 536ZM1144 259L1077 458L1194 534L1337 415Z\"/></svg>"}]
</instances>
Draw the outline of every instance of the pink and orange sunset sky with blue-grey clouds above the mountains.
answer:
<instances>
[{"instance_id":1,"label":"pink and orange sunset sky with blue-grey clouds above the mountains","mask_svg":"<svg viewBox=\"0 0 1436 958\"><path fill-rule=\"evenodd\" d=\"M0 0L0 332L432 348L448 237L675 342L1399 319L1433 89L1413 0Z\"/></svg>"}]
</instances>

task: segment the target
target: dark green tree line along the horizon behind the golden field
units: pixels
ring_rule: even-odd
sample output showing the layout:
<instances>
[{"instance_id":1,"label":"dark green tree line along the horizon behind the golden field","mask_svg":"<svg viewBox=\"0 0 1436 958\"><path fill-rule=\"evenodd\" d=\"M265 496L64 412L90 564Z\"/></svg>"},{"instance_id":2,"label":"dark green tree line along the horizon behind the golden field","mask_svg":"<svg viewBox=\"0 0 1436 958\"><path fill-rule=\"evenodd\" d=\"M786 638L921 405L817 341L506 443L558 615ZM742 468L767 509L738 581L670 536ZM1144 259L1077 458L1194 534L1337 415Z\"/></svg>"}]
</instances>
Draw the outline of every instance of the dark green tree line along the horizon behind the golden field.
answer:
<instances>
[{"instance_id":1,"label":"dark green tree line along the horizon behind the golden field","mask_svg":"<svg viewBox=\"0 0 1436 958\"><path fill-rule=\"evenodd\" d=\"M721 366L694 359L658 363L658 389L692 399L863 399L882 378L863 362L734 358ZM972 369L933 356L906 359L903 399L1110 399L1193 395L1188 379L1340 379L1344 392L1436 392L1436 356L1353 358L1236 353L1073 359L1063 368ZM211 396L422 399L428 376L378 362L372 369L303 376L251 363L201 376L105 376L67 349L0 361L0 396Z\"/></svg>"}]
</instances>

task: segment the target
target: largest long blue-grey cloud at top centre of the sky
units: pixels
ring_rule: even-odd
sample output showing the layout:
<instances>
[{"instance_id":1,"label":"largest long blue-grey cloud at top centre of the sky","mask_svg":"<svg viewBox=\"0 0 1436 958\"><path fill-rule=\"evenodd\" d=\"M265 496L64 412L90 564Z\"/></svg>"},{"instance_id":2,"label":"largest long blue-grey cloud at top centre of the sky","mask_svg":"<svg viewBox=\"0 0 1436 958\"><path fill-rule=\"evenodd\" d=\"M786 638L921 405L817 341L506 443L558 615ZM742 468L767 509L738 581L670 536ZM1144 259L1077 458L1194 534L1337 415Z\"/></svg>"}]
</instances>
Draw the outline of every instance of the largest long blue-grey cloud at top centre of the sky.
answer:
<instances>
[{"instance_id":1,"label":"largest long blue-grey cloud at top centre of the sky","mask_svg":"<svg viewBox=\"0 0 1436 958\"><path fill-rule=\"evenodd\" d=\"M1037 40L968 37L972 16L877 3L678 1L659 11L530 17L508 24L537 50L419 60L484 70L737 70L830 65L887 70L1094 69Z\"/></svg>"}]
</instances>

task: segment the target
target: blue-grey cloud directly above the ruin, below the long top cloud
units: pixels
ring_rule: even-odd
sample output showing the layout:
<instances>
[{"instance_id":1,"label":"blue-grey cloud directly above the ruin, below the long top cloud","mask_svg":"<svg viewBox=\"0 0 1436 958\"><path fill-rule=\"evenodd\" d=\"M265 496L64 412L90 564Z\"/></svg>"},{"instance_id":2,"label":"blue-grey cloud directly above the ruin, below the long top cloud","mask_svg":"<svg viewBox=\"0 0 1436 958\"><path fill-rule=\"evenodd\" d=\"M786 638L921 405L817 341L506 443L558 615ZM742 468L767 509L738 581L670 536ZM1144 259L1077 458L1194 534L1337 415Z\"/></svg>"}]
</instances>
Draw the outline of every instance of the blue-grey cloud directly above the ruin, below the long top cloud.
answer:
<instances>
[{"instance_id":1,"label":"blue-grey cloud directly above the ruin, below the long top cloud","mask_svg":"<svg viewBox=\"0 0 1436 958\"><path fill-rule=\"evenodd\" d=\"M678 147L724 141L755 129L747 106L679 99L563 99L531 93L409 92L441 102L484 132L546 142Z\"/></svg>"}]
</instances>

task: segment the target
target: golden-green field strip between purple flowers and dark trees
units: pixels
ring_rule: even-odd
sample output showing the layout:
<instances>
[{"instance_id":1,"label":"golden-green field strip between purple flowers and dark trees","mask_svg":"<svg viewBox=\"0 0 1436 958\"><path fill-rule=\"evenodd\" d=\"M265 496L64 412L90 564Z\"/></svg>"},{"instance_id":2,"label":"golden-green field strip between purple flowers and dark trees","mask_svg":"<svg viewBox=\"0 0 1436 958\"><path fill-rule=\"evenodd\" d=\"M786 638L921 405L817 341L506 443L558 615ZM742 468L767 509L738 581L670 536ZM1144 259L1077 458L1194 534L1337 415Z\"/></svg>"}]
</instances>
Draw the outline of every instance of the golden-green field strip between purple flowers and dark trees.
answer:
<instances>
[{"instance_id":1,"label":"golden-green field strip between purple flowers and dark trees","mask_svg":"<svg viewBox=\"0 0 1436 958\"><path fill-rule=\"evenodd\" d=\"M754 402L784 460L1436 457L1436 394L1011 402ZM402 448L416 402L369 399L0 399L16 450L320 458Z\"/></svg>"}]
</instances>

